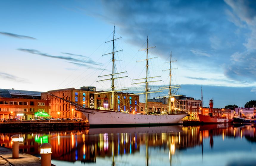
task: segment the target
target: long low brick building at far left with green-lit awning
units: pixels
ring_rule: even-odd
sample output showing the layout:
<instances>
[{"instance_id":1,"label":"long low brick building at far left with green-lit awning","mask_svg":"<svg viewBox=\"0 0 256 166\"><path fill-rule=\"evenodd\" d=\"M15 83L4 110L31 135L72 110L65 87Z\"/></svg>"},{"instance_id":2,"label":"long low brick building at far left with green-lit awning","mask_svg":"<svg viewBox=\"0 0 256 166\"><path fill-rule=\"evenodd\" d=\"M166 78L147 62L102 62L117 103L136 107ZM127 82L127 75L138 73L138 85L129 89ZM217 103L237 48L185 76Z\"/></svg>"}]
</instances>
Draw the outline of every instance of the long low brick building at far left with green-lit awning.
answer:
<instances>
[{"instance_id":1,"label":"long low brick building at far left with green-lit awning","mask_svg":"<svg viewBox=\"0 0 256 166\"><path fill-rule=\"evenodd\" d=\"M0 89L0 117L31 120L35 114L50 111L49 100L41 99L41 92Z\"/></svg>"}]
</instances>

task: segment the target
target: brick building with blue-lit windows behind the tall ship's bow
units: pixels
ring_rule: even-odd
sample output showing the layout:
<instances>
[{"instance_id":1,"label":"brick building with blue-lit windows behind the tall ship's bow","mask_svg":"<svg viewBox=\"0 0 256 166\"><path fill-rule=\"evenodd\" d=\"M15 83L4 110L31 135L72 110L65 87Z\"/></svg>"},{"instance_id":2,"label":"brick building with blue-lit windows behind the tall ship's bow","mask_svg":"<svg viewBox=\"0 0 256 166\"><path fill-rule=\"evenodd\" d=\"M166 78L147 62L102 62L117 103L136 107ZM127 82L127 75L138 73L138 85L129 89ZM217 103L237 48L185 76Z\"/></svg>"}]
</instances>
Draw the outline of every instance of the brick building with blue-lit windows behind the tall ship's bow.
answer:
<instances>
[{"instance_id":1,"label":"brick building with blue-lit windows behind the tall ship's bow","mask_svg":"<svg viewBox=\"0 0 256 166\"><path fill-rule=\"evenodd\" d=\"M99 92L100 94L95 94ZM65 100L77 103L84 108L109 110L111 106L111 94L109 92L102 92L104 91L96 92L96 87L81 87L80 89L67 88L42 93L42 99L50 100L51 116L55 118L81 118L82 113L77 111L74 106ZM65 100L51 96L49 93ZM115 93L115 111L137 111L139 96L128 95L129 93Z\"/></svg>"}]
</instances>

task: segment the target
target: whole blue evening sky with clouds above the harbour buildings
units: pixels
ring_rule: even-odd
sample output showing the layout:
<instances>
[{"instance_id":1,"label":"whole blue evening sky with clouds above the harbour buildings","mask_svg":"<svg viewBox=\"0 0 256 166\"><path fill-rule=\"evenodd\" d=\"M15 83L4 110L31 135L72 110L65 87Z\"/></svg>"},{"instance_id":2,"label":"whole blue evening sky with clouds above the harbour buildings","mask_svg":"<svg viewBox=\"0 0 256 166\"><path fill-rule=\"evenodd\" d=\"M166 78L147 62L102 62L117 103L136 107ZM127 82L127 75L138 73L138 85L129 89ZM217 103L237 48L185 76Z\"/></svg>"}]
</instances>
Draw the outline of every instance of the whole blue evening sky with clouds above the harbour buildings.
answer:
<instances>
[{"instance_id":1,"label":"whole blue evening sky with clouds above the harbour buildings","mask_svg":"<svg viewBox=\"0 0 256 166\"><path fill-rule=\"evenodd\" d=\"M143 91L132 79L145 78L148 35L155 47L149 50L149 76L160 76L150 80L159 80L150 91L168 86L164 70L172 52L178 94L201 99L202 87L204 106L213 98L214 108L256 100L256 1L1 0L0 15L3 89L110 90L110 81L99 81L109 77L98 76L112 71L112 56L102 55L112 52L106 41L113 40L115 25L115 39L121 39L114 50L122 50L115 54L115 72L128 76L116 79L116 89Z\"/></svg>"}]
</instances>

